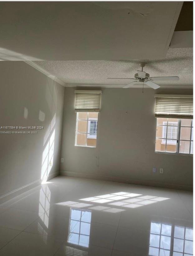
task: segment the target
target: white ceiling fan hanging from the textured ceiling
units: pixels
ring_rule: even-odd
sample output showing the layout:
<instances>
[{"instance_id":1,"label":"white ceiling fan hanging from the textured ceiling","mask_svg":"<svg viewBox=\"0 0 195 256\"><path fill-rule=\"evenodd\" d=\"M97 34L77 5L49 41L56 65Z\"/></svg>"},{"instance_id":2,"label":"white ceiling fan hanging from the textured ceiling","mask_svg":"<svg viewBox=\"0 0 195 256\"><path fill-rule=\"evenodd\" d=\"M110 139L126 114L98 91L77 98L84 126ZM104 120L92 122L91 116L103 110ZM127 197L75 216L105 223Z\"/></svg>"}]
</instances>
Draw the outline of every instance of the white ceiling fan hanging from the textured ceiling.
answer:
<instances>
[{"instance_id":1,"label":"white ceiling fan hanging from the textured ceiling","mask_svg":"<svg viewBox=\"0 0 195 256\"><path fill-rule=\"evenodd\" d=\"M160 86L155 84L153 81L176 81L179 80L178 76L160 76L160 77L150 77L150 74L143 71L143 67L145 67L145 62L140 63L141 71L137 70L135 74L135 78L107 78L107 79L133 79L135 81L125 85L123 88L129 88L133 83L140 83L141 85L148 85L153 89L158 89Z\"/></svg>"}]
</instances>

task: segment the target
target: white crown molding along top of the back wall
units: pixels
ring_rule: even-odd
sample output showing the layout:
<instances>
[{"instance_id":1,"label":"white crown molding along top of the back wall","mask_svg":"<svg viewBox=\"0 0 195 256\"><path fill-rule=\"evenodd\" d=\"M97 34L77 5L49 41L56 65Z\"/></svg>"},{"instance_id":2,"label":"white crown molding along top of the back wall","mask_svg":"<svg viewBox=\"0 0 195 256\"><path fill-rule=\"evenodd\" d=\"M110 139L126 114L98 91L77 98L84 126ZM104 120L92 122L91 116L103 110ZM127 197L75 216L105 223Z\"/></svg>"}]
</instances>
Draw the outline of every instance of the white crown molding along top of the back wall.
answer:
<instances>
[{"instance_id":1,"label":"white crown molding along top of the back wall","mask_svg":"<svg viewBox=\"0 0 195 256\"><path fill-rule=\"evenodd\" d=\"M123 88L125 84L66 84L65 87L102 87L102 88ZM143 88L142 85L131 85L131 88ZM147 85L144 85L145 89L152 89ZM160 85L160 88L164 89L193 89L193 85Z\"/></svg>"}]
</instances>

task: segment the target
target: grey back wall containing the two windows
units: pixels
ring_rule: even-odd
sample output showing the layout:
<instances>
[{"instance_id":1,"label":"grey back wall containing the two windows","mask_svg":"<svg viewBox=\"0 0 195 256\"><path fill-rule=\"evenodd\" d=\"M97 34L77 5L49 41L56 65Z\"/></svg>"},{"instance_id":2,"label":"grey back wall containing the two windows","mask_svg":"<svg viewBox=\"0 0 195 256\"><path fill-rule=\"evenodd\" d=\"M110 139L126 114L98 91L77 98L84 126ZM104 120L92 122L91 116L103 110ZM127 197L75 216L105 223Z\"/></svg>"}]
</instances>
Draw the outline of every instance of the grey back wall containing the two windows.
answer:
<instances>
[{"instance_id":1,"label":"grey back wall containing the two windows","mask_svg":"<svg viewBox=\"0 0 195 256\"><path fill-rule=\"evenodd\" d=\"M145 89L142 94L141 89L103 88L96 148L74 146L74 90L64 91L61 175L192 189L192 156L155 153L154 117L155 94L192 94L191 89Z\"/></svg>"}]
</instances>

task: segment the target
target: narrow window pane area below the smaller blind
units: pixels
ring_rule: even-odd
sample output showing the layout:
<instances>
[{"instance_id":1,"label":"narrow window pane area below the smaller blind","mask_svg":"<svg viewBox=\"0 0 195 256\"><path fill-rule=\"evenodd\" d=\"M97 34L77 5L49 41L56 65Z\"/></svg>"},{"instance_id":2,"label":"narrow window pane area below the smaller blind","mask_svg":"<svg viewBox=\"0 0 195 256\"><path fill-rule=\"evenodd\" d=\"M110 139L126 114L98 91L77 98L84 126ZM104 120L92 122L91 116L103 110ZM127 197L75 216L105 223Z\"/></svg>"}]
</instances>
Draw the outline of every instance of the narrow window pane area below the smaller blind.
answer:
<instances>
[{"instance_id":1,"label":"narrow window pane area below the smaller blind","mask_svg":"<svg viewBox=\"0 0 195 256\"><path fill-rule=\"evenodd\" d=\"M75 146L96 147L98 112L78 112Z\"/></svg>"}]
</instances>

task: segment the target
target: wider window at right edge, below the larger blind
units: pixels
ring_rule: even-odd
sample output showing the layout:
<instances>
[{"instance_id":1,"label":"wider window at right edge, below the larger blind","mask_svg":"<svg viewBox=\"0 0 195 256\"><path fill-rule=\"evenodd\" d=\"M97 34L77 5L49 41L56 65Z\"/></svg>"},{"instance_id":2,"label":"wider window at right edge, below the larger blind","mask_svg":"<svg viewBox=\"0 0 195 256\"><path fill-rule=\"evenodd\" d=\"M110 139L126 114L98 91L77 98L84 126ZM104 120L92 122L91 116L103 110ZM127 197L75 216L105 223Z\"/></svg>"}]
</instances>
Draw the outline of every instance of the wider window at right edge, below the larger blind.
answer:
<instances>
[{"instance_id":1,"label":"wider window at right edge, below the larger blind","mask_svg":"<svg viewBox=\"0 0 195 256\"><path fill-rule=\"evenodd\" d=\"M193 154L193 120L157 118L156 152Z\"/></svg>"}]
</instances>

